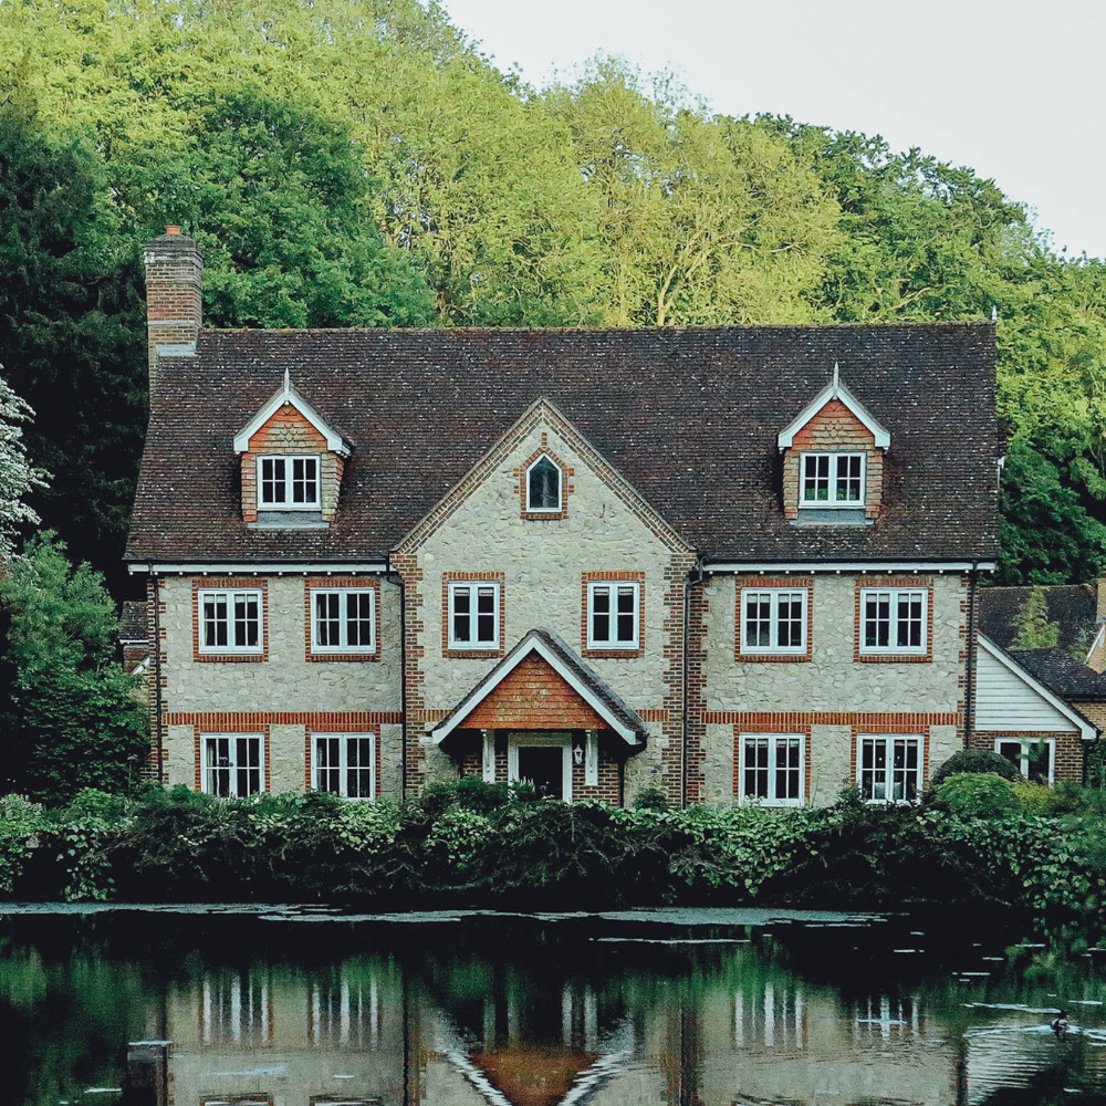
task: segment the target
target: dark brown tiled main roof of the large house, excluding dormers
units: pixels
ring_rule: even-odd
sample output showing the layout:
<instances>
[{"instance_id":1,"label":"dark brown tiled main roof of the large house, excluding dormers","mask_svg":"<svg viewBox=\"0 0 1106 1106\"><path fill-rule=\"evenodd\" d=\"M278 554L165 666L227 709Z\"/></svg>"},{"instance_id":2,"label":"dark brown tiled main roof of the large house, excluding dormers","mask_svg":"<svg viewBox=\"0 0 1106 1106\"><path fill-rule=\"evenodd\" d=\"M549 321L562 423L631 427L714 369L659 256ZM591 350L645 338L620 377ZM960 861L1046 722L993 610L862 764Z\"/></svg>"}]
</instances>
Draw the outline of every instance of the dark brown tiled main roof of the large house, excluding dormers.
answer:
<instances>
[{"instance_id":1,"label":"dark brown tiled main roof of the large house, excluding dormers","mask_svg":"<svg viewBox=\"0 0 1106 1106\"><path fill-rule=\"evenodd\" d=\"M776 436L841 377L891 435L872 526L799 528ZM284 369L352 445L328 530L248 530L231 442ZM718 560L992 560L985 324L620 331L212 331L164 359L132 561L383 557L547 398Z\"/></svg>"}]
</instances>

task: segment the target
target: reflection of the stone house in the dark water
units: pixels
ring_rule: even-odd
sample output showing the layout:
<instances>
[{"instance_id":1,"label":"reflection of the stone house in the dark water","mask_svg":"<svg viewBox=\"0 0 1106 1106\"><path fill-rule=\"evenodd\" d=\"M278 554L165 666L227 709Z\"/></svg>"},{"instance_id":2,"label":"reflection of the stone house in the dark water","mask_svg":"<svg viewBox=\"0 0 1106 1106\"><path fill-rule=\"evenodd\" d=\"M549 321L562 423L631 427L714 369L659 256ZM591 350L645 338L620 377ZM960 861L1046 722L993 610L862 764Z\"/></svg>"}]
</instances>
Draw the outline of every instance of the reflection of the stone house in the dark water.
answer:
<instances>
[{"instance_id":1,"label":"reflection of the stone house in the dark water","mask_svg":"<svg viewBox=\"0 0 1106 1106\"><path fill-rule=\"evenodd\" d=\"M943 1106L956 1093L953 1050L927 1039L909 997L844 1002L745 946L692 970L641 948L208 968L167 995L167 1102Z\"/></svg>"}]
</instances>

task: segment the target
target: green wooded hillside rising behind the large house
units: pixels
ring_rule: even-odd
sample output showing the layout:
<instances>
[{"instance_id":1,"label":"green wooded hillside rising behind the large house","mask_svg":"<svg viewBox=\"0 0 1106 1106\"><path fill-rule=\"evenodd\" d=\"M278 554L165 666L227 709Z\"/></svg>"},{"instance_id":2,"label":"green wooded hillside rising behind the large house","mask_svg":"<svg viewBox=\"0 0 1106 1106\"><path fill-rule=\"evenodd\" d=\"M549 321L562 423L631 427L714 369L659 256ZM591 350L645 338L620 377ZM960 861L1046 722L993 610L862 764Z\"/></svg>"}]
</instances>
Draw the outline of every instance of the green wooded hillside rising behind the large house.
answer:
<instances>
[{"instance_id":1,"label":"green wooded hillside rising behind the large house","mask_svg":"<svg viewBox=\"0 0 1106 1106\"><path fill-rule=\"evenodd\" d=\"M994 316L997 578L1106 567L1106 268L969 168L718 115L616 59L533 88L416 0L0 0L0 364L49 473L28 498L116 599L140 251L169 222L212 326Z\"/></svg>"}]
</instances>

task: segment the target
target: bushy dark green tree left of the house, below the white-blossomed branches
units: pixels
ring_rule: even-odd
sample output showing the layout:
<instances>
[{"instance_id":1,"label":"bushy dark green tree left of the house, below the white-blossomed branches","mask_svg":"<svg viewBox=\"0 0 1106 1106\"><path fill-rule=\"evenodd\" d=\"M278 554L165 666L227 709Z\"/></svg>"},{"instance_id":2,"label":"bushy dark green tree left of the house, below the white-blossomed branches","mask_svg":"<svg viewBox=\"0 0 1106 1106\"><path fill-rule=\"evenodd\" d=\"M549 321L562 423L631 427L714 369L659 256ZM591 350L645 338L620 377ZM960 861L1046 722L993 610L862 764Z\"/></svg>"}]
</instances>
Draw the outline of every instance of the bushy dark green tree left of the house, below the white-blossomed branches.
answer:
<instances>
[{"instance_id":1,"label":"bushy dark green tree left of the house, below the white-blossomed branches","mask_svg":"<svg viewBox=\"0 0 1106 1106\"><path fill-rule=\"evenodd\" d=\"M117 791L149 749L138 681L115 660L115 608L103 577L73 567L46 532L0 577L4 790L58 801Z\"/></svg>"}]
</instances>

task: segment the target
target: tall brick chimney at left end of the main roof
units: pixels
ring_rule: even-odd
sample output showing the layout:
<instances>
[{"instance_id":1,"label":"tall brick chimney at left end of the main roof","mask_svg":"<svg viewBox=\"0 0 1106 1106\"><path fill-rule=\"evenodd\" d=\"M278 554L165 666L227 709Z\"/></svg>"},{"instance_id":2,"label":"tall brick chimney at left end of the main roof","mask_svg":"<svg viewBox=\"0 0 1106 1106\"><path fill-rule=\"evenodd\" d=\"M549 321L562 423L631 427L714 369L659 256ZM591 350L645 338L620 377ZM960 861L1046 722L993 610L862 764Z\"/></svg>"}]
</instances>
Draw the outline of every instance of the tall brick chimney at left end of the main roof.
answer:
<instances>
[{"instance_id":1,"label":"tall brick chimney at left end of the main roof","mask_svg":"<svg viewBox=\"0 0 1106 1106\"><path fill-rule=\"evenodd\" d=\"M146 333L149 384L157 379L158 358L192 357L204 322L204 259L196 243L166 227L150 239L143 253L146 262Z\"/></svg>"}]
</instances>

